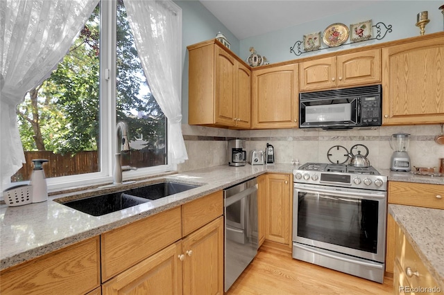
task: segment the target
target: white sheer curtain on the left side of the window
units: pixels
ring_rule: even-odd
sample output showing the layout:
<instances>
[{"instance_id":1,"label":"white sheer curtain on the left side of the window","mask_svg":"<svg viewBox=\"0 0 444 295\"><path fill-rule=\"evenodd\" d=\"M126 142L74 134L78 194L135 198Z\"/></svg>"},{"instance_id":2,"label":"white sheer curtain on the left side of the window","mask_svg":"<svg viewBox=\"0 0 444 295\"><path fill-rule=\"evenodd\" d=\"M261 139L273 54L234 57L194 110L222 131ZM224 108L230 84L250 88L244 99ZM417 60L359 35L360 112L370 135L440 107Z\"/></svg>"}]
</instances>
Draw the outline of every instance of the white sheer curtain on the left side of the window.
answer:
<instances>
[{"instance_id":1,"label":"white sheer curtain on the left side of the window","mask_svg":"<svg viewBox=\"0 0 444 295\"><path fill-rule=\"evenodd\" d=\"M0 188L25 162L16 107L51 75L99 0L0 1Z\"/></svg>"}]
</instances>

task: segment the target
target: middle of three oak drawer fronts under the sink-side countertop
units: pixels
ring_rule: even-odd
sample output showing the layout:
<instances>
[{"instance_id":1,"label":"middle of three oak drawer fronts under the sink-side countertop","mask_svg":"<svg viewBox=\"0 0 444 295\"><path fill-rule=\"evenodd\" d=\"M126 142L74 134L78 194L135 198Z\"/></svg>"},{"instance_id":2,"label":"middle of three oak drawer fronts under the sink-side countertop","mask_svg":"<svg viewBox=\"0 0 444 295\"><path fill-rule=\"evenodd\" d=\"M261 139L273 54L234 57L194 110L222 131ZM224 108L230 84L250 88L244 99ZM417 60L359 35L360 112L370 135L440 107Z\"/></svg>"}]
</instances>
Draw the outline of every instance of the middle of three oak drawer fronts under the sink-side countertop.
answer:
<instances>
[{"instance_id":1,"label":"middle of three oak drawer fronts under the sink-side countertop","mask_svg":"<svg viewBox=\"0 0 444 295\"><path fill-rule=\"evenodd\" d=\"M182 238L180 206L101 235L102 282Z\"/></svg>"}]
</instances>

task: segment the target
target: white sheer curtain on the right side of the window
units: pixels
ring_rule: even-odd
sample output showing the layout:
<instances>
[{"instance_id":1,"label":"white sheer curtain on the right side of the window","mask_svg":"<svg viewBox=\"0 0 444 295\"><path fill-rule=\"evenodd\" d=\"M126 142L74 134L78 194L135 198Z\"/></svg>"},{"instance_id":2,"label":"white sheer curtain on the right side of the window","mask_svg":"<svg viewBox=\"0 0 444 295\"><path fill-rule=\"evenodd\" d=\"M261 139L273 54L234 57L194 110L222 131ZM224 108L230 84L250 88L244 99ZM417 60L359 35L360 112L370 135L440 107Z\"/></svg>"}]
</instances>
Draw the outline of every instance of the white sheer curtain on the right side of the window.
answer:
<instances>
[{"instance_id":1,"label":"white sheer curtain on the right side of the window","mask_svg":"<svg viewBox=\"0 0 444 295\"><path fill-rule=\"evenodd\" d=\"M171 163L188 159L182 136L182 9L171 0L124 0L151 91L168 118Z\"/></svg>"}]
</instances>

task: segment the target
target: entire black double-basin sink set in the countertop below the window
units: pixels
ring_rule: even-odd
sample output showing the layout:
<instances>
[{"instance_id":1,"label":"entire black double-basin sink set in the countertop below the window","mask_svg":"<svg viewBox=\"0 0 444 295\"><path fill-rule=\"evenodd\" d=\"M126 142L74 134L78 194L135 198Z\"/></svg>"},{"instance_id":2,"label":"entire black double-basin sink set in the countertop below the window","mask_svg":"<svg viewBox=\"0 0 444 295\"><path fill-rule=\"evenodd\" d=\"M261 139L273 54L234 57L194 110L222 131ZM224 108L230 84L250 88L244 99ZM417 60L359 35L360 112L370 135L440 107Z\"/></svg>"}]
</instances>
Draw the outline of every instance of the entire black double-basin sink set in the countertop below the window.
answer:
<instances>
[{"instance_id":1,"label":"entire black double-basin sink set in the countertop below the window","mask_svg":"<svg viewBox=\"0 0 444 295\"><path fill-rule=\"evenodd\" d=\"M159 184L151 184L149 186L124 190L123 192L118 193L110 193L107 195L76 199L74 201L60 202L60 204L74 208L89 215L101 216L139 204L144 204L155 199L167 197L169 195L182 193L185 190L191 190L192 188L197 187L198 186L192 184L161 182Z\"/></svg>"}]
</instances>

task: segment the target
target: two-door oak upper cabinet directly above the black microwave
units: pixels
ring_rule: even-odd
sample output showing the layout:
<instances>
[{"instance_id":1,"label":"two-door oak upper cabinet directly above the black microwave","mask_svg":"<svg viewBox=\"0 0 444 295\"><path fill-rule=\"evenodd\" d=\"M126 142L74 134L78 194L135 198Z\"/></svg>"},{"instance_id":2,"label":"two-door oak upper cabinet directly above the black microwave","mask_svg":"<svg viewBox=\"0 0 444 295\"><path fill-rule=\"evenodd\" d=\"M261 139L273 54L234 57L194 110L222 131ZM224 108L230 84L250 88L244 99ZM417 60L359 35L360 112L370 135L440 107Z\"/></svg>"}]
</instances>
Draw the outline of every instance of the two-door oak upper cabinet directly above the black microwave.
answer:
<instances>
[{"instance_id":1,"label":"two-door oak upper cabinet directly above the black microwave","mask_svg":"<svg viewBox=\"0 0 444 295\"><path fill-rule=\"evenodd\" d=\"M381 50L372 49L301 62L300 91L381 82Z\"/></svg>"}]
</instances>

